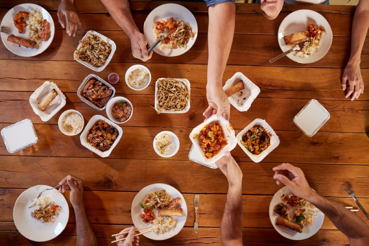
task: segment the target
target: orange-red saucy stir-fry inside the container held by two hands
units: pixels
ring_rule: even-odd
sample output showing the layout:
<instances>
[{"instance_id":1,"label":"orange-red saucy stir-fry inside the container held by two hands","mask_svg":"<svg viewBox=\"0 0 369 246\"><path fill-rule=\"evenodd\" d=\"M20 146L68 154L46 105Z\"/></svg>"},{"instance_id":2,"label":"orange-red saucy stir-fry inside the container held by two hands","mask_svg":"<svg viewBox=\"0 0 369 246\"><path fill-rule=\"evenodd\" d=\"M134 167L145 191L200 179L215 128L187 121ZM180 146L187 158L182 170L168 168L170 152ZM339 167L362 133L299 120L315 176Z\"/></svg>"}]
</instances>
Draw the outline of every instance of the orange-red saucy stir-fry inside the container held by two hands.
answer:
<instances>
[{"instance_id":1,"label":"orange-red saucy stir-fry inside the container held by two hands","mask_svg":"<svg viewBox=\"0 0 369 246\"><path fill-rule=\"evenodd\" d=\"M200 147L207 158L217 155L222 146L227 144L221 126L216 122L205 125L200 134L193 138L199 139Z\"/></svg>"}]
</instances>

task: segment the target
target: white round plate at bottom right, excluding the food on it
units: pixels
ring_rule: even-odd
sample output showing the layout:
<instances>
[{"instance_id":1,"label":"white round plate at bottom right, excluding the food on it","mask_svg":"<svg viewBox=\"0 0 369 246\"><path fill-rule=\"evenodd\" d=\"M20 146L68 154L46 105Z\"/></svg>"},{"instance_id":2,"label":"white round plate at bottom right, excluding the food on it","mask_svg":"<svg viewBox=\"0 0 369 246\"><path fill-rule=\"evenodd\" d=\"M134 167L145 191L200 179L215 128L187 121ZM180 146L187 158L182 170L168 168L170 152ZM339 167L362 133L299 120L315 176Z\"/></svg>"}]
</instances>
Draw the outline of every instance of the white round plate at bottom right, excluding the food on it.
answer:
<instances>
[{"instance_id":1,"label":"white round plate at bottom right, excluding the food on it","mask_svg":"<svg viewBox=\"0 0 369 246\"><path fill-rule=\"evenodd\" d=\"M321 212L317 213L317 216L314 219L314 224L313 225L311 225L311 226L310 225L305 225L304 226L304 229L302 230L302 233L292 231L292 230L290 230L290 229L288 229L284 226L276 225L276 220L277 220L279 215L276 212L274 212L273 209L274 209L275 205L282 202L282 200L281 200L282 195L289 195L289 197L291 197L293 194L288 189L287 186L284 186L279 191L277 191L277 193L272 198L272 201L270 201L270 205L269 205L269 218L270 218L270 221L272 222L272 225L276 229L276 231L280 235L284 236L285 238L292 239L292 240L307 239L307 238L310 238L311 236L313 236L315 233L317 233L319 231L320 227L322 226L323 221L324 221L324 214L321 213ZM291 208L289 205L287 207L289 208L287 210L288 212L294 210L294 208ZM289 214L291 216L291 213L289 213Z\"/></svg>"}]
</instances>

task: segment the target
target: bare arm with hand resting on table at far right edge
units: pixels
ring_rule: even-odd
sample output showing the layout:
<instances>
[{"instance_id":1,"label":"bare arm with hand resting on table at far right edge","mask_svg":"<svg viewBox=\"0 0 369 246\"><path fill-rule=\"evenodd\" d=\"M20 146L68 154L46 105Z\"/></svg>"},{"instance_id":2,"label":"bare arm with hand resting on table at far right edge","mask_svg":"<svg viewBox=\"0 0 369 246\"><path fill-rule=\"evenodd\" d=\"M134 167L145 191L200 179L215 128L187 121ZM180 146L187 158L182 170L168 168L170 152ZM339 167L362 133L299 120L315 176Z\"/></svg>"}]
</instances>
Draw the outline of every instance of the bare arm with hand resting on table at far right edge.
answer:
<instances>
[{"instance_id":1,"label":"bare arm with hand resting on table at far right edge","mask_svg":"<svg viewBox=\"0 0 369 246\"><path fill-rule=\"evenodd\" d=\"M369 0L360 0L356 6L354 21L351 32L351 54L342 75L342 90L348 91L345 97L351 101L359 98L364 93L364 81L360 71L361 51L365 42L366 33L369 27Z\"/></svg>"}]
</instances>

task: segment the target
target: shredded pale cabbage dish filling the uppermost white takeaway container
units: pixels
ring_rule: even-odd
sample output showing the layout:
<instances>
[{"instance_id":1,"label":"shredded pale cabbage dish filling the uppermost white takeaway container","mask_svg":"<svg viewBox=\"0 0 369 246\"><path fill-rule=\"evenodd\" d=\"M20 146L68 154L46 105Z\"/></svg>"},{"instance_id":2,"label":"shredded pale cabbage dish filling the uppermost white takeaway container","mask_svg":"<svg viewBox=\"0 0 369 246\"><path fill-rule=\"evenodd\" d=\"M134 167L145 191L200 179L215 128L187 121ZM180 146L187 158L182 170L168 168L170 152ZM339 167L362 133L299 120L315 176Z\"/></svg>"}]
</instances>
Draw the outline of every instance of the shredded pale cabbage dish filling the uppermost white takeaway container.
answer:
<instances>
[{"instance_id":1,"label":"shredded pale cabbage dish filling the uppermost white takeaway container","mask_svg":"<svg viewBox=\"0 0 369 246\"><path fill-rule=\"evenodd\" d=\"M82 45L75 51L76 59L89 62L94 67L104 66L111 53L109 41L105 42L98 35L90 33L79 42Z\"/></svg>"}]
</instances>

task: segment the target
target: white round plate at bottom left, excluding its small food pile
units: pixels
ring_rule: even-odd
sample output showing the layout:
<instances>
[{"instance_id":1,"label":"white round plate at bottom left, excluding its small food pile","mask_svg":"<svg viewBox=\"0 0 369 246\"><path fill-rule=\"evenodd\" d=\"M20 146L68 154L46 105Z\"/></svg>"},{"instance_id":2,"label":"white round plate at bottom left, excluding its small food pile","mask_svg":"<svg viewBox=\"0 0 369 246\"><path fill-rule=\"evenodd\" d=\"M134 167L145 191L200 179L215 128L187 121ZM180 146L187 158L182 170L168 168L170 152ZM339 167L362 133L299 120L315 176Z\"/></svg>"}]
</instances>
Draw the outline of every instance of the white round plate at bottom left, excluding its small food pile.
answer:
<instances>
[{"instance_id":1,"label":"white round plate at bottom left, excluding its small food pile","mask_svg":"<svg viewBox=\"0 0 369 246\"><path fill-rule=\"evenodd\" d=\"M62 207L62 210L60 214L56 216L55 221L42 222L31 217L31 212L35 211L36 206L28 208L32 205L32 200L30 198L36 198L41 191L49 188L52 187L39 185L28 188L18 197L14 204L14 224L23 236L32 241L45 242L56 238L56 236L58 236L64 230L68 223L68 203L64 196L56 189L42 193L45 195L51 195L52 200L55 201L55 204Z\"/></svg>"}]
</instances>

